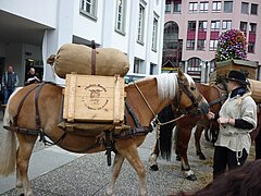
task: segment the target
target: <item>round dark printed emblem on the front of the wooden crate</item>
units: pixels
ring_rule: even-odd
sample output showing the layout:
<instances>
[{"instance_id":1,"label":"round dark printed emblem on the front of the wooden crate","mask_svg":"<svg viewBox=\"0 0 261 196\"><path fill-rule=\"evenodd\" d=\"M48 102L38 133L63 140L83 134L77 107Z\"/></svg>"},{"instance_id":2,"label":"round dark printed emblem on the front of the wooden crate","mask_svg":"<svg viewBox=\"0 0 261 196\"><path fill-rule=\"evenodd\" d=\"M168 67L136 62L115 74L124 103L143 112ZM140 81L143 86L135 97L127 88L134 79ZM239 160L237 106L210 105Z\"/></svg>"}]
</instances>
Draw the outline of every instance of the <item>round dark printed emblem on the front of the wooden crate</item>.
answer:
<instances>
[{"instance_id":1,"label":"round dark printed emblem on the front of the wooden crate","mask_svg":"<svg viewBox=\"0 0 261 196\"><path fill-rule=\"evenodd\" d=\"M101 110L109 102L107 89L100 84L90 84L84 87L85 96L82 97L84 106L90 110Z\"/></svg>"}]
</instances>

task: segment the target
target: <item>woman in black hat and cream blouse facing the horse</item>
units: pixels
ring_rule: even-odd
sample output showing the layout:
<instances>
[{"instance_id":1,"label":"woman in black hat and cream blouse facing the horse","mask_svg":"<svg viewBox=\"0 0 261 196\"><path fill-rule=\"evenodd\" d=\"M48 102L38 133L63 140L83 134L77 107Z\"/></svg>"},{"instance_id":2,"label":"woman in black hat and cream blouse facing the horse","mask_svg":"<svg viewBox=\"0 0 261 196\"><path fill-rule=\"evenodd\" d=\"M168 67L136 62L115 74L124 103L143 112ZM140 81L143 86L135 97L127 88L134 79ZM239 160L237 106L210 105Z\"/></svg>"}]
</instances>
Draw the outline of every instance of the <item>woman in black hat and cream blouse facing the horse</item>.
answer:
<instances>
[{"instance_id":1,"label":"woman in black hat and cream blouse facing the horse","mask_svg":"<svg viewBox=\"0 0 261 196\"><path fill-rule=\"evenodd\" d=\"M228 74L228 98L219 115L209 112L209 119L217 119L220 133L214 148L213 177L243 166L251 146L250 132L257 126L257 105L248 90L246 75L240 71Z\"/></svg>"}]
</instances>

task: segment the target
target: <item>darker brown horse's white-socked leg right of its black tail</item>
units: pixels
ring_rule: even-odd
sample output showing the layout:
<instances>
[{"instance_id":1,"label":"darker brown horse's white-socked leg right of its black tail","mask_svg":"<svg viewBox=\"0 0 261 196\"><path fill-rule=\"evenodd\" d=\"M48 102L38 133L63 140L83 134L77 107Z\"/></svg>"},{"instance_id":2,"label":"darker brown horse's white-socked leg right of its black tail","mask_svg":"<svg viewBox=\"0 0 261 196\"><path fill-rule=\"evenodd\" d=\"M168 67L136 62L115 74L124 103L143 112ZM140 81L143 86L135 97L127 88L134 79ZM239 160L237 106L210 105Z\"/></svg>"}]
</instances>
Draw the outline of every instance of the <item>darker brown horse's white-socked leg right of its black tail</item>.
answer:
<instances>
[{"instance_id":1,"label":"darker brown horse's white-socked leg right of its black tail","mask_svg":"<svg viewBox=\"0 0 261 196\"><path fill-rule=\"evenodd\" d=\"M178 128L177 148L178 148L178 152L182 158L182 171L184 172L185 177L187 180L196 181L197 177L196 177L195 173L190 170L190 166L189 166L188 159L187 159L188 143L190 139L192 127L183 126L182 130L179 130L181 127L179 127L179 125L177 125L176 128Z\"/></svg>"}]
</instances>

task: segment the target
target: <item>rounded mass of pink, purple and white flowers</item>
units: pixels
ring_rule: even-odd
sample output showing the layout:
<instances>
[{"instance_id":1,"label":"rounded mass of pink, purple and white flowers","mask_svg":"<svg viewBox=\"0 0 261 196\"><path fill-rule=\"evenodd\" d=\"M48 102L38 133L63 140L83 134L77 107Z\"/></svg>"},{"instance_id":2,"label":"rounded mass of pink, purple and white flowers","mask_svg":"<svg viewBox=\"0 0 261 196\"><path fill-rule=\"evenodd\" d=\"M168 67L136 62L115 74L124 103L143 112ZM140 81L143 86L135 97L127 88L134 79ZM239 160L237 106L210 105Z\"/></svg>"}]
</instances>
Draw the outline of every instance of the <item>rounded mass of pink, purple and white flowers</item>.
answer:
<instances>
[{"instance_id":1,"label":"rounded mass of pink, purple and white flowers","mask_svg":"<svg viewBox=\"0 0 261 196\"><path fill-rule=\"evenodd\" d=\"M243 32L228 29L219 37L215 61L226 61L228 59L247 59L247 41Z\"/></svg>"}]
</instances>

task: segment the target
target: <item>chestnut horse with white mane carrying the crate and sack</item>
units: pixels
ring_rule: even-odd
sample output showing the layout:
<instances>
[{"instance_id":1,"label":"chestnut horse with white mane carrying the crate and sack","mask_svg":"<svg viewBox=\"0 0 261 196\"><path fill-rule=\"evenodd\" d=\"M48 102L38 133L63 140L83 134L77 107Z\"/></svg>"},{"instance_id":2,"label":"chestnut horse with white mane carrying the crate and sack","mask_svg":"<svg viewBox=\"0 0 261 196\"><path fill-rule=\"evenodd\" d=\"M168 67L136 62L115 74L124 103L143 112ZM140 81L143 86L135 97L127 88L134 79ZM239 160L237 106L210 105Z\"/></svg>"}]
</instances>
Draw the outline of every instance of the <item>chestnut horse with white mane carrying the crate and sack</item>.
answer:
<instances>
[{"instance_id":1,"label":"chestnut horse with white mane carrying the crate and sack","mask_svg":"<svg viewBox=\"0 0 261 196\"><path fill-rule=\"evenodd\" d=\"M33 195L27 171L38 135L42 140L48 137L53 144L73 152L94 154L105 150L104 137L79 136L58 126L61 120L62 90L62 87L50 83L33 84L15 91L8 102L3 124L11 131L4 132L1 142L0 174L14 172L16 161L16 187L24 187L26 196ZM146 195L146 169L137 147L145 140L151 120L173 101L178 102L181 109L200 110L203 114L209 112L209 105L192 78L182 71L178 74L160 74L140 79L127 85L125 91L125 119L130 130L112 134L115 157L107 195L113 194L125 159L138 174L138 194ZM20 143L17 150L16 138Z\"/></svg>"}]
</instances>

